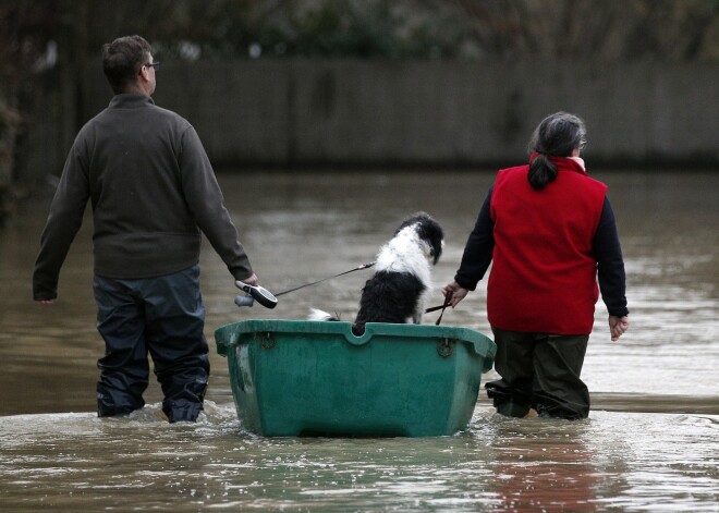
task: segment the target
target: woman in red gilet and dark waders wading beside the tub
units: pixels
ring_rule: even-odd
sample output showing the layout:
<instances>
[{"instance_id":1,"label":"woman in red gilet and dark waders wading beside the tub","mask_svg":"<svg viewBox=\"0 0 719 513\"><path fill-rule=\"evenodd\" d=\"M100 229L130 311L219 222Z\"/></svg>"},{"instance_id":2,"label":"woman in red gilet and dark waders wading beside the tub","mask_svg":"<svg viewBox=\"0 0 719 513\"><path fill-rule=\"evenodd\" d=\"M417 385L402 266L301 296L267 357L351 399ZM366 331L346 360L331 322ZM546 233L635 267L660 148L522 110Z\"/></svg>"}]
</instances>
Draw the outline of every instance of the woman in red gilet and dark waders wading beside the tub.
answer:
<instances>
[{"instance_id":1,"label":"woman in red gilet and dark waders wading beside the tub","mask_svg":"<svg viewBox=\"0 0 719 513\"><path fill-rule=\"evenodd\" d=\"M499 171L454 281L443 288L455 307L492 262L487 317L501 379L486 388L503 415L534 408L543 417L588 416L580 374L599 289L611 340L629 329L614 215L607 186L584 169L584 145L576 115L558 112L539 123L529 163Z\"/></svg>"}]
</instances>

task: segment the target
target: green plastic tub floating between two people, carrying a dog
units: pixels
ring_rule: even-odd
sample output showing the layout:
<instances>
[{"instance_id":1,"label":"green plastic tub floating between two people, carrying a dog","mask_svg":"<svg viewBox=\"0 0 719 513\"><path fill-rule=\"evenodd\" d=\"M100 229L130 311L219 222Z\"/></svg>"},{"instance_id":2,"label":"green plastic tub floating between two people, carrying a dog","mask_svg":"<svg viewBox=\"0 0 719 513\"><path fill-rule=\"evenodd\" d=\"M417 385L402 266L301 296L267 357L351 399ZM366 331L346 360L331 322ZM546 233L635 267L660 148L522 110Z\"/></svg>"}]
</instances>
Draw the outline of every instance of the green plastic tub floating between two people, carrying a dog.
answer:
<instances>
[{"instance_id":1,"label":"green plastic tub floating between two people, carrying a dog","mask_svg":"<svg viewBox=\"0 0 719 513\"><path fill-rule=\"evenodd\" d=\"M434 437L465 429L497 347L467 329L243 320L215 332L245 429L266 437Z\"/></svg>"}]
</instances>

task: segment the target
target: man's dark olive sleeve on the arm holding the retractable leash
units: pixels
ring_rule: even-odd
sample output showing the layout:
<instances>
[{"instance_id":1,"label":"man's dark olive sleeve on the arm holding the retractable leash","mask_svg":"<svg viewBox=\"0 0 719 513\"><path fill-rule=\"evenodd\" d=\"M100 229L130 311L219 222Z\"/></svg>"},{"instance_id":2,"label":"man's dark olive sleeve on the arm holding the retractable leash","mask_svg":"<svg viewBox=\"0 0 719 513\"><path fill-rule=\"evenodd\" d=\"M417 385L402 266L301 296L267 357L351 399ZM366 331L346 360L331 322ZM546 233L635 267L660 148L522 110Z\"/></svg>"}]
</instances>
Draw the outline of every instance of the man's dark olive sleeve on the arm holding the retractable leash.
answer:
<instances>
[{"instance_id":1,"label":"man's dark olive sleeve on the arm holding the retractable leash","mask_svg":"<svg viewBox=\"0 0 719 513\"><path fill-rule=\"evenodd\" d=\"M224 198L205 148L192 126L182 135L179 160L182 187L197 227L235 280L249 278L254 273L249 258L239 241L230 212L224 207Z\"/></svg>"}]
</instances>

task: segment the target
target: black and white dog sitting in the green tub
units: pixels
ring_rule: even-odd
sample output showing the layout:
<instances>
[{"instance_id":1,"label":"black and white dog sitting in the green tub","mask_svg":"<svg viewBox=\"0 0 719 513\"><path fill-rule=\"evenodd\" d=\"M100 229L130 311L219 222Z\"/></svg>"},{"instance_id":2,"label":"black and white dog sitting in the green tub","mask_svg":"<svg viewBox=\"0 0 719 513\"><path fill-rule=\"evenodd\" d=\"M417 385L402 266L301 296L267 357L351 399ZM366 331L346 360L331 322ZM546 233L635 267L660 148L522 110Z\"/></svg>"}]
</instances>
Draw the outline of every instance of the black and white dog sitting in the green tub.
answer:
<instances>
[{"instance_id":1,"label":"black and white dog sitting in the green tub","mask_svg":"<svg viewBox=\"0 0 719 513\"><path fill-rule=\"evenodd\" d=\"M405 219L391 241L380 247L375 274L362 289L360 312L352 325L356 335L367 322L422 322L431 291L430 267L442 255L444 234L425 212ZM309 320L339 320L313 308Z\"/></svg>"}]
</instances>

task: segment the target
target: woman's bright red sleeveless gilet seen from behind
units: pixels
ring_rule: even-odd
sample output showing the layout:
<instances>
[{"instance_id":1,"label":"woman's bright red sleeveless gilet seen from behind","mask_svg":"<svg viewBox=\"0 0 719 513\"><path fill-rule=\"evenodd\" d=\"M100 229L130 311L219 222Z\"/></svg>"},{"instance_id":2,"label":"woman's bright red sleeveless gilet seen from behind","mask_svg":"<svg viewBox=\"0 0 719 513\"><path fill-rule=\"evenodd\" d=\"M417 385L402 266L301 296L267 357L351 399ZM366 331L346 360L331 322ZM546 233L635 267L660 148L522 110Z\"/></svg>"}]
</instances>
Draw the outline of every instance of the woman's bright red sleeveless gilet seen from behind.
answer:
<instances>
[{"instance_id":1,"label":"woman's bright red sleeveless gilet seen from behind","mask_svg":"<svg viewBox=\"0 0 719 513\"><path fill-rule=\"evenodd\" d=\"M528 166L497 175L487 315L508 331L588 334L599 297L592 242L607 186L572 159L550 159L559 172L543 191L529 185Z\"/></svg>"}]
</instances>

